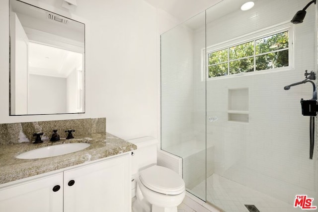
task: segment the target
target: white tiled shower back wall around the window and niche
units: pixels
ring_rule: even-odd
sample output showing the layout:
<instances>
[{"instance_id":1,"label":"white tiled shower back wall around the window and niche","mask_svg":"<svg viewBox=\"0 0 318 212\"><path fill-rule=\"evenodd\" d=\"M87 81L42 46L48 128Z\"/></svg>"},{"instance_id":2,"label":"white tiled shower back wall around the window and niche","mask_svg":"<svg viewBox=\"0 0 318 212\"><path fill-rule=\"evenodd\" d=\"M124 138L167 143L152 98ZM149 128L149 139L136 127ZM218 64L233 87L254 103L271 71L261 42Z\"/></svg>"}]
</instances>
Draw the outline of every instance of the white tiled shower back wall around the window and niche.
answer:
<instances>
[{"instance_id":1,"label":"white tiled shower back wall around the window and niche","mask_svg":"<svg viewBox=\"0 0 318 212\"><path fill-rule=\"evenodd\" d=\"M258 0L251 10L237 10L211 22L208 10L207 47L289 23L306 3ZM291 204L297 194L316 196L317 160L309 159L309 117L302 116L300 104L301 98L312 98L313 88L307 83L283 89L304 80L305 70L316 70L315 13L313 4L304 22L292 25L294 69L209 79L206 83L207 116L218 117L216 122L207 121L207 145L214 146L214 154L207 159L214 162L214 173ZM195 58L201 58L202 33L197 30L194 35ZM200 73L195 75L200 81ZM195 96L202 95L204 82L195 87ZM230 92L241 88L248 89L248 123L228 120ZM200 121L205 125L202 119L195 123Z\"/></svg>"}]
</instances>

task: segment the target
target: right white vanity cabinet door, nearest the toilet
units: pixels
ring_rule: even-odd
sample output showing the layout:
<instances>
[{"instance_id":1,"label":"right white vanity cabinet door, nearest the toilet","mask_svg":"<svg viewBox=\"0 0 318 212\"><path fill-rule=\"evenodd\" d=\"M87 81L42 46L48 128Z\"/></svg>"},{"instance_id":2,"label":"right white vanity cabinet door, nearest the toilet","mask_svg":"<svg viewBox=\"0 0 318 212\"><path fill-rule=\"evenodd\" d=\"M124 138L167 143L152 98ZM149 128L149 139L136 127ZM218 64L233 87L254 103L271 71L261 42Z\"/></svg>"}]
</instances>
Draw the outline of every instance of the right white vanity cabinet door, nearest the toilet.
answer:
<instances>
[{"instance_id":1,"label":"right white vanity cabinet door, nearest the toilet","mask_svg":"<svg viewBox=\"0 0 318 212\"><path fill-rule=\"evenodd\" d=\"M64 212L131 212L130 157L64 171Z\"/></svg>"}]
</instances>

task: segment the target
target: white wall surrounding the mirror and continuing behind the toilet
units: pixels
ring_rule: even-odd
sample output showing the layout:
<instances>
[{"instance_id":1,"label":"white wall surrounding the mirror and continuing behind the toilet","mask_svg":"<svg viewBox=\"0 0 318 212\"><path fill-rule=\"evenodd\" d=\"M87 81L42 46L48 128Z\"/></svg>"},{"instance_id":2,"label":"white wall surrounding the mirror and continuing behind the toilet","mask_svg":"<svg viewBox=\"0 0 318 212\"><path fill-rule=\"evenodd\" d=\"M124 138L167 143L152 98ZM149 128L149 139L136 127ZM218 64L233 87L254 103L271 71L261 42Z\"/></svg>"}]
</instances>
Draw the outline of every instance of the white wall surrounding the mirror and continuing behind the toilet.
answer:
<instances>
[{"instance_id":1,"label":"white wall surrounding the mirror and continuing behind the toilet","mask_svg":"<svg viewBox=\"0 0 318 212\"><path fill-rule=\"evenodd\" d=\"M32 0L28 0L32 1ZM43 2L33 0L37 4ZM46 1L57 13L70 13L62 0ZM77 0L73 17L85 29L85 114L8 115L8 1L0 2L0 123L107 118L107 132L123 139L157 138L157 10L143 0ZM55 8L53 8L55 7ZM58 12L59 11L59 12ZM63 14L62 14L63 15Z\"/></svg>"}]
</instances>

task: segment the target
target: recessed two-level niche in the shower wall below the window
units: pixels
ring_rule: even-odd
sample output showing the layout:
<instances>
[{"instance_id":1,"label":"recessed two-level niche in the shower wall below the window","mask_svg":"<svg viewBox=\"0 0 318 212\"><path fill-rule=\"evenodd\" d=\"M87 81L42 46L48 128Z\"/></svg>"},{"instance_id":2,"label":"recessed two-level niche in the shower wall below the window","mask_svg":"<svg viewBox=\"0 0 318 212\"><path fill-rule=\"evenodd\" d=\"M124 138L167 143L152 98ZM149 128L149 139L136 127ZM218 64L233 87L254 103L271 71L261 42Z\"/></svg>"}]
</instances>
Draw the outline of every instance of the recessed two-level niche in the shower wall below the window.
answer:
<instances>
[{"instance_id":1,"label":"recessed two-level niche in the shower wall below the window","mask_svg":"<svg viewBox=\"0 0 318 212\"><path fill-rule=\"evenodd\" d=\"M248 123L248 88L229 89L228 97L228 121Z\"/></svg>"}]
</instances>

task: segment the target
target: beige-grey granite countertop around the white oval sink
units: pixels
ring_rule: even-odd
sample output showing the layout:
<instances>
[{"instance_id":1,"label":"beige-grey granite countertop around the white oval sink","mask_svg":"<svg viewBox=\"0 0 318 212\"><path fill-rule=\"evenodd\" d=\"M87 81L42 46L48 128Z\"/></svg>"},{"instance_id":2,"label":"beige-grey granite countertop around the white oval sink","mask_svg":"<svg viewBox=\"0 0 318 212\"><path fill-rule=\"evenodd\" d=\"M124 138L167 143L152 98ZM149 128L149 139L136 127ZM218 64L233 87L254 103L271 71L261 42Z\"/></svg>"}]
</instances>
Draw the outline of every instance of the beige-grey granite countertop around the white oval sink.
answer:
<instances>
[{"instance_id":1,"label":"beige-grey granite countertop around the white oval sink","mask_svg":"<svg viewBox=\"0 0 318 212\"><path fill-rule=\"evenodd\" d=\"M83 150L55 157L39 159L16 158L18 154L32 149L71 142L86 142L91 145ZM134 149L137 149L135 144L109 133L92 134L91 138L70 140L61 138L57 142L48 140L37 144L22 142L0 145L0 184L121 154Z\"/></svg>"}]
</instances>

